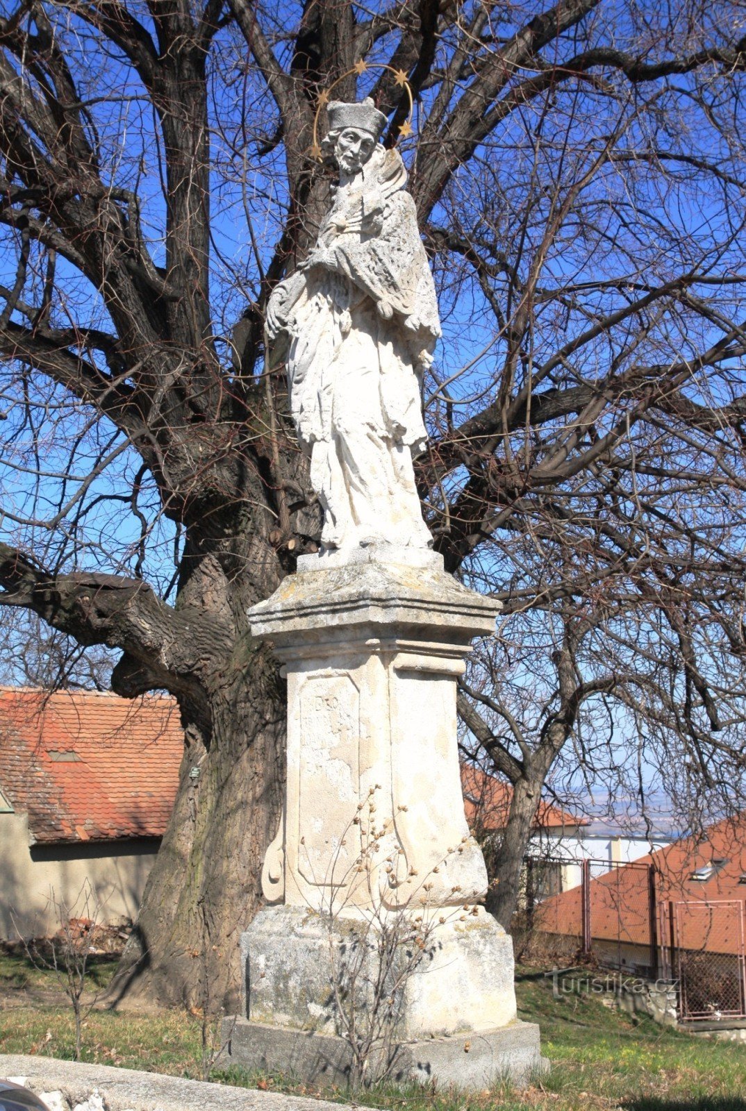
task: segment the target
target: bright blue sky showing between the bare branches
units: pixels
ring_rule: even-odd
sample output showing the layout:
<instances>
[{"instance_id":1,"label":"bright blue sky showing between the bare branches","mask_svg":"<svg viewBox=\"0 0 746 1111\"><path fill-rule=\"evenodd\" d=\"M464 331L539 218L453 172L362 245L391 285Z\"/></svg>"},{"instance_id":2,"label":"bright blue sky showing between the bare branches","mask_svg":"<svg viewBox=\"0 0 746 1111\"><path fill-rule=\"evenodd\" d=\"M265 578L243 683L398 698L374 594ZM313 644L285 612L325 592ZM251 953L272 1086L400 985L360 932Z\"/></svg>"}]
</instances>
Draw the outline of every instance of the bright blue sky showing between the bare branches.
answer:
<instances>
[{"instance_id":1,"label":"bright blue sky showing between the bare branches","mask_svg":"<svg viewBox=\"0 0 746 1111\"><path fill-rule=\"evenodd\" d=\"M12 7L8 0L0 3L3 11ZM619 0L599 7L583 28L558 43L555 56L545 60L559 61L583 49L586 33L594 41L624 48L643 28L649 41L655 42L656 24L667 18L654 4L637 9ZM137 3L131 8L147 24L146 6ZM493 30L498 36L507 34L510 31L507 20L518 23L534 11L535 4L515 6L511 14L505 16L506 22ZM291 39L284 32L297 27L300 8L278 2L265 6L262 12L270 33L276 33L278 57L287 66ZM81 97L90 101L105 180L138 191L151 254L156 263L161 263L165 206L158 136L139 79L116 50L103 51L81 21L71 17L66 22L59 10L54 18L59 20L60 41L71 60ZM710 16L705 12L703 19ZM667 48L680 47L688 33L686 28L675 27L666 40ZM716 38L718 33L713 16L705 38ZM370 60L388 59L392 46L391 37L380 40ZM656 49L660 49L659 44ZM440 60L446 60L450 50L448 36L439 50ZM376 73L364 76L359 96L370 90L376 77ZM247 300L256 296L259 270L271 257L285 218L287 190L282 146L269 153L261 152L262 144L276 131L277 111L256 67L247 60L245 43L235 29L225 30L216 39L210 80L213 91L211 299L218 347L228 364L228 338ZM724 117L725 108L718 101L717 82L712 76L708 80L710 109L713 118L718 120ZM628 94L623 81L611 97L590 83L583 87L568 83L555 97L526 104L513 113L480 148L473 163L456 173L432 213L431 223L468 234L480 244L490 263L497 261L490 253L490 244L503 247L510 264L525 280L556 198L565 196L571 182L598 156L609 130L620 128L615 158L583 191L581 202L546 250L520 374L538 372L558 347L591 327L598 312L627 304L641 296L646 287L680 273L687 266L725 276L743 268L739 224L744 219L743 204L740 209L728 207L713 177L704 179L685 172L685 163L666 162L663 173L660 166L649 162L653 151L657 156L678 151L704 156L728 172L740 166L736 126L739 107L730 106L736 113L732 130L726 132L724 127L718 130L713 119L694 104L696 88L695 79L683 77L659 100L648 103L645 92ZM113 99L103 96L112 89L117 90ZM435 89L422 94L415 113L415 137L400 143L409 167L417 149L418 129L435 96ZM12 286L17 253L17 241L6 233L4 246L0 246L2 284ZM43 280L43 260L32 252L34 261L37 270L24 291L29 301L38 297ZM435 377L426 382L425 392L429 399L427 420L437 437L449 411L458 424L495 397L506 338L485 290L458 256L437 258L434 269L444 339L436 352ZM63 260L58 260L58 279L61 293L53 303L57 323L109 327L96 290ZM515 292L499 266L495 267L489 288L500 312L515 310ZM703 298L713 296L706 284L695 291ZM716 289L715 296L718 310L737 316L743 309L739 286ZM21 320L18 314L16 319ZM637 328L637 321L634 327ZM669 312L655 322L641 347L635 346L639 334L634 333L634 328L631 334L619 329L613 341L599 336L584 347L579 357L558 367L545 380L544 388L567 384L573 374L578 379L603 376L617 358L624 368L625 360L626 364L634 359L658 359L665 363L690 356L717 331L716 323L703 317ZM629 353L625 354L627 348ZM734 367L730 376L727 372L717 378L700 376L689 396L696 400L727 401L729 392L737 391L740 374L740 367ZM106 420L93 420L95 414L84 406L71 404L59 388L38 376L29 376L18 364L0 371L0 409L4 413L0 424L2 539L33 550L51 567L135 573L140 560L141 521L133 512L130 492L139 468L137 453L119 441ZM599 419L598 434L604 433L610 420L611 416ZM565 433L557 426L527 431L525 438L519 434L514 438L514 450L535 452L540 458ZM636 451L649 457L658 444L665 451L666 443L665 428L647 427L636 429L618 450L627 459ZM728 443L727 438L723 450L727 459L736 459L737 446ZM102 454L111 456L111 461L101 477L90 481L91 470ZM695 456L692 449L692 458ZM40 471L42 477L36 478ZM444 486L446 490L455 489L462 479L462 472L455 471L444 480ZM588 473L581 481L568 484L567 504L579 516L584 507L593 503L596 493L596 480ZM629 491L623 494L625 499L633 514L635 507ZM437 507L438 501L435 490L432 504ZM157 590L166 592L178 561L179 537L175 526L160 512L157 491L148 476L136 508L148 522L146 559L140 570ZM715 489L709 500L704 498L696 506L687 502L686 492L672 496L667 510L682 520L693 519L694 514L700 527L724 534L730 528L723 499ZM50 528L50 521L58 518L54 528ZM516 549L513 540L509 534L498 533L496 541L485 546L466 565L467 581L478 589L514 592L535 589L537 575L550 582L555 573L551 550L544 552L530 530L521 548ZM730 536L728 543L737 546L738 537ZM519 622L514 621L505 630L506 642L517 637L513 631ZM530 632L536 638L537 651L530 665L526 663L523 671L516 668L518 694L521 690L540 688L537 668L541 652L550 651L554 635L541 617L536 618L530 630L526 622L524 625L527 635ZM625 727L617 722L616 728L621 729L620 741L626 750L634 751L630 742L634 731L624 735L629 722ZM643 778L655 785L657 775L655 763L646 763ZM599 790L604 789L601 784Z\"/></svg>"}]
</instances>

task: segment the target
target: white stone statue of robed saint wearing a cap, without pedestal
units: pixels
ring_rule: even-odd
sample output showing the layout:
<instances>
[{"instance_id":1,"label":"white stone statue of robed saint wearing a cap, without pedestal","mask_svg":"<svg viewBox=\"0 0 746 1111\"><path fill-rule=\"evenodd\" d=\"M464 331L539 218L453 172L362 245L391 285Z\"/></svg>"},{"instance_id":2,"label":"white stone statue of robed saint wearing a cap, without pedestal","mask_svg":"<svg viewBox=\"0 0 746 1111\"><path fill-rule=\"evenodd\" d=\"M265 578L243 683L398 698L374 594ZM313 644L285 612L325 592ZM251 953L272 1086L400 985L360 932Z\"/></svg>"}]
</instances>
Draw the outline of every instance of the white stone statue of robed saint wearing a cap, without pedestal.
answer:
<instances>
[{"instance_id":1,"label":"white stone statue of robed saint wearing a cap, without pedestal","mask_svg":"<svg viewBox=\"0 0 746 1111\"><path fill-rule=\"evenodd\" d=\"M322 150L339 183L310 256L267 307L289 337L290 406L324 508L324 550L428 548L412 452L438 307L407 171L371 100L332 101Z\"/></svg>"}]
</instances>

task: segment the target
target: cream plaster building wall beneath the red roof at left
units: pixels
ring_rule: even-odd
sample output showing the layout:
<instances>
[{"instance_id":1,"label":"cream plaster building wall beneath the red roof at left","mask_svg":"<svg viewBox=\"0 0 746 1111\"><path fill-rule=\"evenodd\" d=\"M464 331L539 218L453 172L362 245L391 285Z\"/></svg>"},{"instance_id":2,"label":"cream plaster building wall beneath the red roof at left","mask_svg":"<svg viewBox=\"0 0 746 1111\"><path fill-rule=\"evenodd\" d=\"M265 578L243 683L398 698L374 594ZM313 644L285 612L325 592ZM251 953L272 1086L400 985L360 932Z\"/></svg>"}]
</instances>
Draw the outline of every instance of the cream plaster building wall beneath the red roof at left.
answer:
<instances>
[{"instance_id":1,"label":"cream plaster building wall beneath the red roof at left","mask_svg":"<svg viewBox=\"0 0 746 1111\"><path fill-rule=\"evenodd\" d=\"M107 924L135 919L159 838L113 843L29 847L26 814L0 813L0 938L40 937L59 929L52 899L69 918ZM80 892L89 881L97 912Z\"/></svg>"}]
</instances>

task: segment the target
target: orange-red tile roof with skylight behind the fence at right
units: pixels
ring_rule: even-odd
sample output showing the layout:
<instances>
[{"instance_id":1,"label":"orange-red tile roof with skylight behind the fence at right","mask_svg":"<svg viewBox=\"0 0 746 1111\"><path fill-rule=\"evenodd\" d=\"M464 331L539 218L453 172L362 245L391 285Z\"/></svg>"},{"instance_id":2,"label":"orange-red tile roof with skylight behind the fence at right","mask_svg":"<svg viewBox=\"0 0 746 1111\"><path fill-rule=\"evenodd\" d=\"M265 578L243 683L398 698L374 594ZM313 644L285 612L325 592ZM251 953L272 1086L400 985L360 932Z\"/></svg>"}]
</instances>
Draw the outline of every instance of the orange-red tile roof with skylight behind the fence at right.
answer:
<instances>
[{"instance_id":1,"label":"orange-red tile roof with skylight behind the fence at right","mask_svg":"<svg viewBox=\"0 0 746 1111\"><path fill-rule=\"evenodd\" d=\"M695 870L724 861L708 880L693 880ZM710 952L739 952L735 915L708 913L710 905L723 900L744 900L746 883L746 811L727 818L706 830L706 838L683 838L656 852L640 857L631 864L593 879L588 884L590 935L593 939L648 945L648 877L639 864L655 868L656 903L684 902L678 911L678 944L683 949ZM571 888L541 902L535 913L535 924L546 933L580 937L580 888Z\"/></svg>"}]
</instances>

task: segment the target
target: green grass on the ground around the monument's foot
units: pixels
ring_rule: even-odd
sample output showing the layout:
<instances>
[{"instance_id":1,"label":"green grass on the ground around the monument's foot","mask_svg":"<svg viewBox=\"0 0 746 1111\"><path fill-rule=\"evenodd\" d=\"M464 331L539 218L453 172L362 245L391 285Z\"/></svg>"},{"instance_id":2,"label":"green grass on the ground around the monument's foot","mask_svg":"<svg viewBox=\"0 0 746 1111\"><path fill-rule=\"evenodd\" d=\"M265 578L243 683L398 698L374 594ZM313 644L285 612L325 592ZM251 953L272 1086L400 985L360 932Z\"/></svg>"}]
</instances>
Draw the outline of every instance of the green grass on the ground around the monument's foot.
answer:
<instances>
[{"instance_id":1,"label":"green grass on the ground around the monument's foot","mask_svg":"<svg viewBox=\"0 0 746 1111\"><path fill-rule=\"evenodd\" d=\"M16 962L16 963L14 963ZM102 962L101 975L110 973ZM0 985L51 989L49 973L29 970L20 958L0 958ZM541 973L519 970L516 991L521 1019L541 1027L551 1072L524 1092L501 1087L464 1097L415 1088L379 1087L356 1102L385 1111L746 1111L746 1045L690 1038L610 1010L593 995L555 1000ZM3 992L8 999L12 991ZM71 1058L72 1018L61 1005L14 1001L0 1013L0 1051ZM83 1060L171 1075L201 1077L201 1024L177 1011L133 1015L96 1010L83 1030ZM247 1074L218 1067L212 1079L270 1091L347 1101L341 1089L321 1090L288 1078Z\"/></svg>"}]
</instances>

